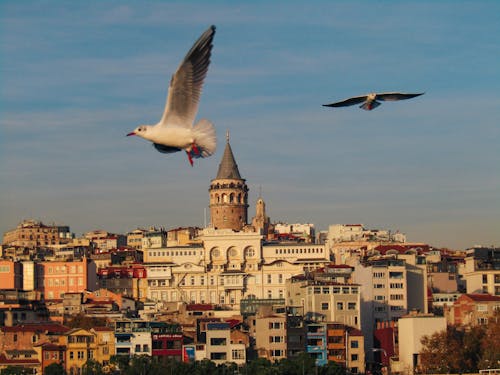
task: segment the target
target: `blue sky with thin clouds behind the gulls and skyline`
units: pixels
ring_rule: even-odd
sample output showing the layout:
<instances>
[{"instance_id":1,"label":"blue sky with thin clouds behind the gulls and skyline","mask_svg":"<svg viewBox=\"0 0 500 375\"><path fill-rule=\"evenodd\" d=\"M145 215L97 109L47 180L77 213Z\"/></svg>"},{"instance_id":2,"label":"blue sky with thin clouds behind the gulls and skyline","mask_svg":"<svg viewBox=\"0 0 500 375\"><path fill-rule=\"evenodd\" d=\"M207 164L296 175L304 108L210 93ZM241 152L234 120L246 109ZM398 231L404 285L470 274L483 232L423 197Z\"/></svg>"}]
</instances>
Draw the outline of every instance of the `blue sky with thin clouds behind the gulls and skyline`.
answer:
<instances>
[{"instance_id":1,"label":"blue sky with thin clouds behind the gulls and skyline","mask_svg":"<svg viewBox=\"0 0 500 375\"><path fill-rule=\"evenodd\" d=\"M197 118L217 152L136 137L216 25ZM126 233L203 226L229 131L273 222L500 245L498 1L0 2L0 233L24 219ZM331 103L425 92L376 110Z\"/></svg>"}]
</instances>

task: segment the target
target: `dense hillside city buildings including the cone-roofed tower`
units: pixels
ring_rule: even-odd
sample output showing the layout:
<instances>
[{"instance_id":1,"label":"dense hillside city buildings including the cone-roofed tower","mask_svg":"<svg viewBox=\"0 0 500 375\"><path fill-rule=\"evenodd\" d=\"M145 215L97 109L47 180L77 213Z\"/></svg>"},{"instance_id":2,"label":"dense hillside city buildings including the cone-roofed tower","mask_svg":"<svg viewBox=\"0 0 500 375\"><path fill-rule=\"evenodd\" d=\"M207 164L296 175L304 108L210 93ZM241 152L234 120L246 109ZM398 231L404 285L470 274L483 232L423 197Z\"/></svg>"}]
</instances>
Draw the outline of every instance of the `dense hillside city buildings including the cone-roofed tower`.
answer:
<instances>
[{"instance_id":1,"label":"dense hillside city buildings including the cone-roofed tower","mask_svg":"<svg viewBox=\"0 0 500 375\"><path fill-rule=\"evenodd\" d=\"M271 220L262 196L249 218L242 176L227 139L204 228L77 237L27 219L4 233L2 374L136 373L138 358L264 373L249 364L303 356L307 373L413 374L433 335L498 332L500 248L434 248L358 223L316 232Z\"/></svg>"}]
</instances>

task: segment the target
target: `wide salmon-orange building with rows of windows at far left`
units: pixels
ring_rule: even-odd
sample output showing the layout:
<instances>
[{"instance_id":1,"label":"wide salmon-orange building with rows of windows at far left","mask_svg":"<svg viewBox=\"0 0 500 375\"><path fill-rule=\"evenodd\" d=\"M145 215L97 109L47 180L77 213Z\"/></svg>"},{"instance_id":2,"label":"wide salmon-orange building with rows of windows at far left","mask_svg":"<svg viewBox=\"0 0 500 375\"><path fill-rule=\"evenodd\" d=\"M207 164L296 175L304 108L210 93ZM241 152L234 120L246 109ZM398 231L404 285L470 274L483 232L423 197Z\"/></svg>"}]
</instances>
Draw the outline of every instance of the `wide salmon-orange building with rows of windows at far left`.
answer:
<instances>
[{"instance_id":1,"label":"wide salmon-orange building with rows of windows at far left","mask_svg":"<svg viewBox=\"0 0 500 375\"><path fill-rule=\"evenodd\" d=\"M93 261L45 261L36 264L36 285L45 299L60 299L65 293L95 290L96 266Z\"/></svg>"}]
</instances>

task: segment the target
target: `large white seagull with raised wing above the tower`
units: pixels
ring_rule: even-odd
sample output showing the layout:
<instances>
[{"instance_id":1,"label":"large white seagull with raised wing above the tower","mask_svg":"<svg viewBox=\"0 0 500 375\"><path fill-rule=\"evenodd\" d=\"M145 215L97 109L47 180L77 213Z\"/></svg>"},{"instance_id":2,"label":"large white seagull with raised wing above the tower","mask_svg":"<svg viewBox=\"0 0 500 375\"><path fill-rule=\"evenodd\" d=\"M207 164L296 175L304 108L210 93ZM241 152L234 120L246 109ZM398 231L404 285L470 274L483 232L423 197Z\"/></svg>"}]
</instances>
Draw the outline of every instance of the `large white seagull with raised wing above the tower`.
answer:
<instances>
[{"instance_id":1,"label":"large white seagull with raised wing above the tower","mask_svg":"<svg viewBox=\"0 0 500 375\"><path fill-rule=\"evenodd\" d=\"M164 154L184 150L191 166L193 158L206 158L215 152L214 125L201 119L193 126L210 64L214 35L215 26L212 25L194 43L172 75L160 122L140 125L127 136L137 135L151 141L156 150Z\"/></svg>"}]
</instances>

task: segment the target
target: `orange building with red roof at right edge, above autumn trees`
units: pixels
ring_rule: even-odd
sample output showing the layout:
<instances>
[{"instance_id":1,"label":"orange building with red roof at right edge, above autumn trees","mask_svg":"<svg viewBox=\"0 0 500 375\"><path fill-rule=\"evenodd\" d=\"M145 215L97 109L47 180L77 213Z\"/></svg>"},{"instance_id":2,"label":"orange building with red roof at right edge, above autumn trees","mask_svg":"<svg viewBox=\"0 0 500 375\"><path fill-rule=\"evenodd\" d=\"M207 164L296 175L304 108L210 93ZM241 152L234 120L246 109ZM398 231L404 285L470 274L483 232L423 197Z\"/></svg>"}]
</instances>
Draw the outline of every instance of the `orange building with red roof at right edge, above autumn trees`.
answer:
<instances>
[{"instance_id":1,"label":"orange building with red roof at right edge, above autumn trees","mask_svg":"<svg viewBox=\"0 0 500 375\"><path fill-rule=\"evenodd\" d=\"M490 294L462 294L448 310L445 310L449 324L487 324L495 311L500 310L500 296Z\"/></svg>"}]
</instances>

